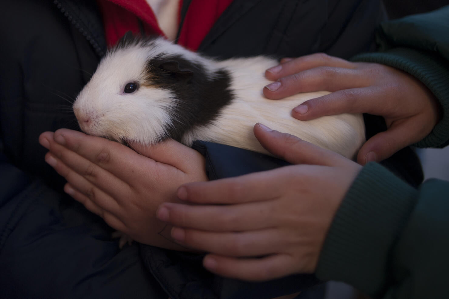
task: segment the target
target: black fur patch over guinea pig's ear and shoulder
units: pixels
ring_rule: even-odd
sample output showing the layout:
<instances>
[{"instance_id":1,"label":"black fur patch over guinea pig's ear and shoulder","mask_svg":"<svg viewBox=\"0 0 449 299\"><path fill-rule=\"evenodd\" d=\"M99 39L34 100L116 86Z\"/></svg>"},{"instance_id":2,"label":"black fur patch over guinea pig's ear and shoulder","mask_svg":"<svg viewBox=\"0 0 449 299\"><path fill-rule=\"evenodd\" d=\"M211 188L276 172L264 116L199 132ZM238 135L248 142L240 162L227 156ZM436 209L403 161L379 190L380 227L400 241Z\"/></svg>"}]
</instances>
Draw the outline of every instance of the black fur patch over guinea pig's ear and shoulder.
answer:
<instances>
[{"instance_id":1,"label":"black fur patch over guinea pig's ear and shoulder","mask_svg":"<svg viewBox=\"0 0 449 299\"><path fill-rule=\"evenodd\" d=\"M177 141L194 126L211 123L233 99L226 70L217 70L209 78L203 66L180 55L154 57L147 62L146 74L144 84L169 89L179 100L168 111L173 125L166 128L167 138Z\"/></svg>"}]
</instances>

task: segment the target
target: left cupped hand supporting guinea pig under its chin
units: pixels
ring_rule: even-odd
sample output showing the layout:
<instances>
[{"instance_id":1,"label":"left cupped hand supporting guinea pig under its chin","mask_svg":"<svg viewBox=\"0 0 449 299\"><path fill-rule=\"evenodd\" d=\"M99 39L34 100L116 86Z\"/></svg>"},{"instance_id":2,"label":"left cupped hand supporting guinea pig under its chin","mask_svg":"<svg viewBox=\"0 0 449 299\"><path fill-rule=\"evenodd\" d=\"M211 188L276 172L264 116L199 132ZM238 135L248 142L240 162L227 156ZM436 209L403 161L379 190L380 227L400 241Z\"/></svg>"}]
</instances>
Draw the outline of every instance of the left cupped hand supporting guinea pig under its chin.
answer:
<instances>
[{"instance_id":1,"label":"left cupped hand supporting guinea pig under its chin","mask_svg":"<svg viewBox=\"0 0 449 299\"><path fill-rule=\"evenodd\" d=\"M176 189L207 180L204 158L194 149L167 140L154 146L132 144L136 151L104 138L60 129L39 142L45 161L66 178L64 191L114 229L132 239L170 249L170 229L155 218L161 202L176 201ZM164 231L163 231L164 230Z\"/></svg>"}]
</instances>

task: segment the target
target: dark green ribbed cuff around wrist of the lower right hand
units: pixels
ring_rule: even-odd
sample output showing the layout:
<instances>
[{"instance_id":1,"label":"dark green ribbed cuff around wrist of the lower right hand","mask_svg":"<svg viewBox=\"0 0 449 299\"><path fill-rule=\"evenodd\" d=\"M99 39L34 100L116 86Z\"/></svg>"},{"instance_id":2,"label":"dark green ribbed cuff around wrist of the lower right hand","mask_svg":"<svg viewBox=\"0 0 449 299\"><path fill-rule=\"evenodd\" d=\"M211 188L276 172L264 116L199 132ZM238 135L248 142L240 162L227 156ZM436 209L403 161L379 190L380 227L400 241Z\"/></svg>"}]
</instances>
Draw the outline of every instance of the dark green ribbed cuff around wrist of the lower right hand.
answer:
<instances>
[{"instance_id":1,"label":"dark green ribbed cuff around wrist of the lower right hand","mask_svg":"<svg viewBox=\"0 0 449 299\"><path fill-rule=\"evenodd\" d=\"M344 281L373 297L381 294L389 279L392 246L417 194L383 166L365 165L330 226L317 277Z\"/></svg>"}]
</instances>

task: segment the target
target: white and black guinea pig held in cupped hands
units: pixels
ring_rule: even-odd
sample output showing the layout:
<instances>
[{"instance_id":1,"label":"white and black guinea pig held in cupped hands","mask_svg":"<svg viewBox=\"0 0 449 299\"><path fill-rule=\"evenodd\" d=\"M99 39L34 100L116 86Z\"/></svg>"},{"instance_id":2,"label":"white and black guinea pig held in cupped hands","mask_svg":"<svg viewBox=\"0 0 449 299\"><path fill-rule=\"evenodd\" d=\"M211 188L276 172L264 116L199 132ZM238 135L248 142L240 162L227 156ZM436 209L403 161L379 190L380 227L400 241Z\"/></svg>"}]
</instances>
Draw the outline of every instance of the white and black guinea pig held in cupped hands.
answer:
<instances>
[{"instance_id":1,"label":"white and black guinea pig held in cupped hands","mask_svg":"<svg viewBox=\"0 0 449 299\"><path fill-rule=\"evenodd\" d=\"M263 56L218 61L163 38L123 38L103 57L73 110L81 130L120 142L203 140L266 154L253 134L254 124L263 123L354 158L365 141L362 115L294 119L292 108L329 92L266 99L264 71L277 63Z\"/></svg>"}]
</instances>

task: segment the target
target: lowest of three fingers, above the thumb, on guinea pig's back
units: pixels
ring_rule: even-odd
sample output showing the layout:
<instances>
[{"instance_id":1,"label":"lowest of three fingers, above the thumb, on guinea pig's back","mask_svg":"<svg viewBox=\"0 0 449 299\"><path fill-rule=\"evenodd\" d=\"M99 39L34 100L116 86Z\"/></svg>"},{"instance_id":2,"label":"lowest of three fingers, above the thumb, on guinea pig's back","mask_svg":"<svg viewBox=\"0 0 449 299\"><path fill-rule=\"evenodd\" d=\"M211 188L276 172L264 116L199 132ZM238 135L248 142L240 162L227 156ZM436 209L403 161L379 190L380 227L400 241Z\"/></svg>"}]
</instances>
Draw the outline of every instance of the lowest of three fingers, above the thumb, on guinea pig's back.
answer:
<instances>
[{"instance_id":1,"label":"lowest of three fingers, above the thumb, on guinea pig's back","mask_svg":"<svg viewBox=\"0 0 449 299\"><path fill-rule=\"evenodd\" d=\"M379 105L379 97L383 95L384 92L375 87L338 90L322 97L305 101L293 108L291 115L299 120L310 120L321 116L342 113L384 115L389 107Z\"/></svg>"}]
</instances>

